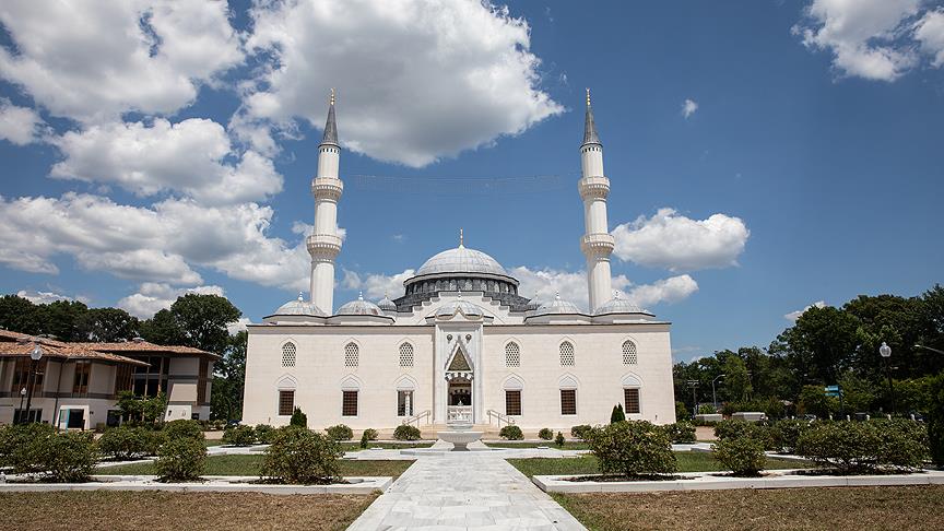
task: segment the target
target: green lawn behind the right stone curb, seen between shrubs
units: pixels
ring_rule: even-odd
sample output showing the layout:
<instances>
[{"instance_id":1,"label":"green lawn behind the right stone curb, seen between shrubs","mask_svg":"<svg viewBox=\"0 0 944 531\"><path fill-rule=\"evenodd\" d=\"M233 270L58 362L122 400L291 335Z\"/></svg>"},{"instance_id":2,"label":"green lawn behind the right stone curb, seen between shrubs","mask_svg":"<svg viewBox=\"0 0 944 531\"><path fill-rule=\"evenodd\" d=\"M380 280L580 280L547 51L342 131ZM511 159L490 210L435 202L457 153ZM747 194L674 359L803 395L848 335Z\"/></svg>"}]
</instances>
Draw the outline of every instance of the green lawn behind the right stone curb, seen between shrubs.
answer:
<instances>
[{"instance_id":1,"label":"green lawn behind the right stone curb, seen between shrubs","mask_svg":"<svg viewBox=\"0 0 944 531\"><path fill-rule=\"evenodd\" d=\"M675 459L678 462L678 472L711 472L724 470L711 453L700 451L676 451ZM531 477L532 475L558 475L558 474L599 474L597 458L593 456L580 456L576 458L530 458L509 459L511 465L521 473ZM802 469L809 467L803 461L788 461L786 459L767 458L767 469Z\"/></svg>"}]
</instances>

